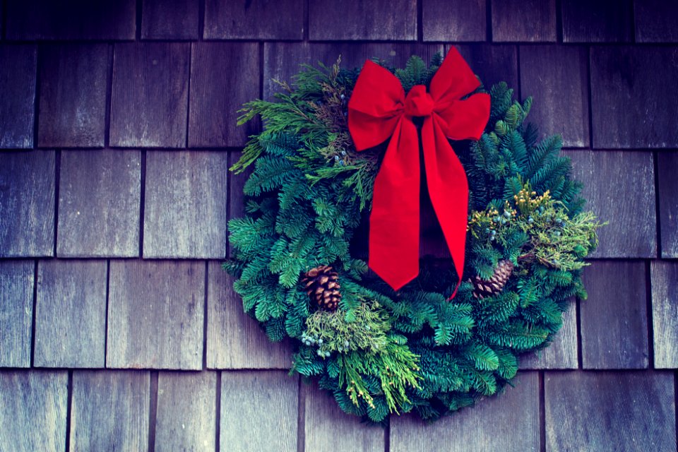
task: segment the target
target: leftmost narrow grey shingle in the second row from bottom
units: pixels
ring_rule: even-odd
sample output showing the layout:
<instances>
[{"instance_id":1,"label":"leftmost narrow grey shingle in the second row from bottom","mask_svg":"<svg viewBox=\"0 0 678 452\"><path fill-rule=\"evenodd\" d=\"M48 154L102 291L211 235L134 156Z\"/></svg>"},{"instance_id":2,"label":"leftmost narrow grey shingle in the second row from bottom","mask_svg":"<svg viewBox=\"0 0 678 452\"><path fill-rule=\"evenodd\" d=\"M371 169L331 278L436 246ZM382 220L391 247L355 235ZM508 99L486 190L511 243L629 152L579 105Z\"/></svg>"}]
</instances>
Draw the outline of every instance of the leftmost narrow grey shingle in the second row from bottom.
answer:
<instances>
[{"instance_id":1,"label":"leftmost narrow grey shingle in the second row from bottom","mask_svg":"<svg viewBox=\"0 0 678 452\"><path fill-rule=\"evenodd\" d=\"M33 261L0 262L0 367L30 367Z\"/></svg>"}]
</instances>

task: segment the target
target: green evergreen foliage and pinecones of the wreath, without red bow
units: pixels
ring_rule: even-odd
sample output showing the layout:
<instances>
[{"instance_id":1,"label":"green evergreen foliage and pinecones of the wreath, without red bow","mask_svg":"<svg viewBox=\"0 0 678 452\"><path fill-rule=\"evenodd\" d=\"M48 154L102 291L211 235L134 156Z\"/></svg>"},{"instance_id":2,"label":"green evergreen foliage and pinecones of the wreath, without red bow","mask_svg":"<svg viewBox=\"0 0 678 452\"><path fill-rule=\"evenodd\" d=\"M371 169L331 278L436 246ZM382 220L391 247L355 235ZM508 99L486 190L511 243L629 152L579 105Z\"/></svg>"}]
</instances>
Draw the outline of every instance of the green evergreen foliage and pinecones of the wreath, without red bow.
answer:
<instances>
[{"instance_id":1,"label":"green evergreen foliage and pinecones of the wreath, without red bow","mask_svg":"<svg viewBox=\"0 0 678 452\"><path fill-rule=\"evenodd\" d=\"M389 69L408 92L441 64L411 57ZM382 64L383 66L383 64ZM572 297L599 226L582 212L561 138L537 143L525 123L532 100L494 85L479 141L456 142L468 174L463 283L449 261L425 256L398 292L368 271L354 236L371 208L385 148L357 153L347 101L359 71L303 66L276 102L255 100L239 124L261 116L232 170L254 164L246 216L230 220L225 268L244 310L270 340L295 344L292 372L318 377L345 412L371 422L415 411L433 420L504 388L518 356L546 347ZM478 91L484 92L482 86Z\"/></svg>"}]
</instances>

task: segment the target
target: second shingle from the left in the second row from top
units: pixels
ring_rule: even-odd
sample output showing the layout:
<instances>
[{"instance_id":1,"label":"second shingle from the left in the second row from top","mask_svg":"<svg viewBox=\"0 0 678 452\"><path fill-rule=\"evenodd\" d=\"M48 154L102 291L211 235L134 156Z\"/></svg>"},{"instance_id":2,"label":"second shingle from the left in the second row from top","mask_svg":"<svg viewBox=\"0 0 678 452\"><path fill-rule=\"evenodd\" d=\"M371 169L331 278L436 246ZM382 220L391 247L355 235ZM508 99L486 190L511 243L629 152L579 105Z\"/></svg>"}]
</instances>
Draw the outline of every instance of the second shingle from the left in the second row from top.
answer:
<instances>
[{"instance_id":1,"label":"second shingle from the left in the second row from top","mask_svg":"<svg viewBox=\"0 0 678 452\"><path fill-rule=\"evenodd\" d=\"M108 44L53 44L40 49L39 146L103 147L111 51Z\"/></svg>"}]
</instances>

